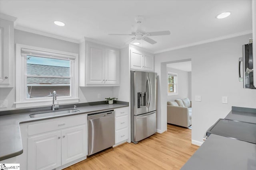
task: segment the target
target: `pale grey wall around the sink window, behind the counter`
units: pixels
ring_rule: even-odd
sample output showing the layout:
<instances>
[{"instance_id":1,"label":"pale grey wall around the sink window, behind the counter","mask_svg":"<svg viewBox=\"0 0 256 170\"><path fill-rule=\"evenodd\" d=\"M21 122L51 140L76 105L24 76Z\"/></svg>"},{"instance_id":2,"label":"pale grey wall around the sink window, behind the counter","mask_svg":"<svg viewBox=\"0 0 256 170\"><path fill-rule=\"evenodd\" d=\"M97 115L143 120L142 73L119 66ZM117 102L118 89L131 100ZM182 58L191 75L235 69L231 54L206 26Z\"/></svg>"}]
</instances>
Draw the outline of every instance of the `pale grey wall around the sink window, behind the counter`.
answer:
<instances>
[{"instance_id":1,"label":"pale grey wall around the sink window, behind the counter","mask_svg":"<svg viewBox=\"0 0 256 170\"><path fill-rule=\"evenodd\" d=\"M46 37L34 33L28 33L14 29L14 47L15 44L30 45L35 47L42 47L47 49L54 49L70 53L79 54L79 44ZM15 51L15 50L14 50ZM14 52L15 57L15 52ZM14 59L15 66L15 59ZM15 70L14 70L15 73ZM14 82L15 85L15 82ZM0 100L8 100L8 107L1 108L1 111L16 109L15 107L15 87L14 88L0 88ZM113 96L113 87L80 87L79 88L79 103L97 102L105 100L107 97ZM100 94L100 98L98 98Z\"/></svg>"}]
</instances>

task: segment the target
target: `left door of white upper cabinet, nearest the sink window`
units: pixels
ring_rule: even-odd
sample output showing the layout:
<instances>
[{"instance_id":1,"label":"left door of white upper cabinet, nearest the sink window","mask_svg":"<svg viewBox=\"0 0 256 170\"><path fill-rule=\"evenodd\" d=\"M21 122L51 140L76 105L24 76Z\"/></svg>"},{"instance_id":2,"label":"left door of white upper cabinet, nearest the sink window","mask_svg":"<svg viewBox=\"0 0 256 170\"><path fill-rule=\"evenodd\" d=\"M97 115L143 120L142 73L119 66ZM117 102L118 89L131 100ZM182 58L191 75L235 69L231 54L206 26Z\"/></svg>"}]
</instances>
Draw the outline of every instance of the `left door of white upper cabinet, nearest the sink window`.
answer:
<instances>
[{"instance_id":1,"label":"left door of white upper cabinet, nearest the sink window","mask_svg":"<svg viewBox=\"0 0 256 170\"><path fill-rule=\"evenodd\" d=\"M105 50L102 46L88 43L87 84L104 84Z\"/></svg>"}]
</instances>

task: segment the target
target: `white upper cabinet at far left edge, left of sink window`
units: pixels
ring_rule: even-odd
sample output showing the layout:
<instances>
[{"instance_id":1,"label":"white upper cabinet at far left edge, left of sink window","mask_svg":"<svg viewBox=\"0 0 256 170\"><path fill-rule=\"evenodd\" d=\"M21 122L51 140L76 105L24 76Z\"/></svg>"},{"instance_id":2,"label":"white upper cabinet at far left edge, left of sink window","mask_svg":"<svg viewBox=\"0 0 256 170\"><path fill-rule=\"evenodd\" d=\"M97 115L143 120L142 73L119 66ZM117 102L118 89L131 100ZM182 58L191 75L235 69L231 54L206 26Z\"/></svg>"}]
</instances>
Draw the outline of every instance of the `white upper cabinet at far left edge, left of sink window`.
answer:
<instances>
[{"instance_id":1,"label":"white upper cabinet at far left edge, left of sink window","mask_svg":"<svg viewBox=\"0 0 256 170\"><path fill-rule=\"evenodd\" d=\"M0 87L13 87L14 82L14 21L1 14L0 18Z\"/></svg>"}]
</instances>

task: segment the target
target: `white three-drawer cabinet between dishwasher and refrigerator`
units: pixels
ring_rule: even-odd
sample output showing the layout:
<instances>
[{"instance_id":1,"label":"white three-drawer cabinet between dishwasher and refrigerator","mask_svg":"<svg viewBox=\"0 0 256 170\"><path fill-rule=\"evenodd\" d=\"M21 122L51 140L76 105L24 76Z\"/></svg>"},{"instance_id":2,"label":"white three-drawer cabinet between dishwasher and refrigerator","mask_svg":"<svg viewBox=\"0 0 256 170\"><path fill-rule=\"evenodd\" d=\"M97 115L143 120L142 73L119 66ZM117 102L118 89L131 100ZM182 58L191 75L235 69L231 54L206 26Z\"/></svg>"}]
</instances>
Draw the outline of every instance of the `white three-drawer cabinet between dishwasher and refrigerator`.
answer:
<instances>
[{"instance_id":1,"label":"white three-drawer cabinet between dishwasher and refrigerator","mask_svg":"<svg viewBox=\"0 0 256 170\"><path fill-rule=\"evenodd\" d=\"M116 129L116 137L115 143L119 145L124 143L128 139L128 107L121 107L115 109L115 129Z\"/></svg>"}]
</instances>

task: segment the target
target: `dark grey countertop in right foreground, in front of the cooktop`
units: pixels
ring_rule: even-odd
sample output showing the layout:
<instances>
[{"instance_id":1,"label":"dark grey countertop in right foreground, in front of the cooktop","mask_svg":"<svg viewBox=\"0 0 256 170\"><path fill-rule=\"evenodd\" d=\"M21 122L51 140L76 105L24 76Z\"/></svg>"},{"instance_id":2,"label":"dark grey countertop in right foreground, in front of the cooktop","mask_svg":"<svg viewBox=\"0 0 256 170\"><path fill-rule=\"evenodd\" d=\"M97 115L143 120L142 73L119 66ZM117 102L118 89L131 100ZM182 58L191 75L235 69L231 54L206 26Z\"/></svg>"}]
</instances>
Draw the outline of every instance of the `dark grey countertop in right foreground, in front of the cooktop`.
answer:
<instances>
[{"instance_id":1,"label":"dark grey countertop in right foreground, in front of the cooktop","mask_svg":"<svg viewBox=\"0 0 256 170\"><path fill-rule=\"evenodd\" d=\"M238 147L239 146L239 147ZM210 135L181 170L255 170L256 145Z\"/></svg>"}]
</instances>

